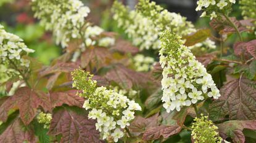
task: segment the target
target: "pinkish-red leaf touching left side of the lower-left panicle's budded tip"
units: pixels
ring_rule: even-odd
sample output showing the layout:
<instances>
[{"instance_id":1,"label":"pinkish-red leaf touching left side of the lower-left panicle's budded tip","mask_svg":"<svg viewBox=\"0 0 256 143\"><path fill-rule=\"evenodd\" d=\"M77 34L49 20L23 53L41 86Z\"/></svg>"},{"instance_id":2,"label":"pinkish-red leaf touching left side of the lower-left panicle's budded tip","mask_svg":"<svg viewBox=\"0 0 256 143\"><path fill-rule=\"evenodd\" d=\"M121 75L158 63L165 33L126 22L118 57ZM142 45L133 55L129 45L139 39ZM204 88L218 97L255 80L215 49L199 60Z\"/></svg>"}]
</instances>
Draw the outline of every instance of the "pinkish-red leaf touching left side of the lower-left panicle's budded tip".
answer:
<instances>
[{"instance_id":1,"label":"pinkish-red leaf touching left side of the lower-left panicle's budded tip","mask_svg":"<svg viewBox=\"0 0 256 143\"><path fill-rule=\"evenodd\" d=\"M54 108L57 106L62 106L63 104L67 104L68 106L83 107L85 99L76 95L77 92L78 90L68 90L65 92L51 93L50 98L52 107Z\"/></svg>"}]
</instances>

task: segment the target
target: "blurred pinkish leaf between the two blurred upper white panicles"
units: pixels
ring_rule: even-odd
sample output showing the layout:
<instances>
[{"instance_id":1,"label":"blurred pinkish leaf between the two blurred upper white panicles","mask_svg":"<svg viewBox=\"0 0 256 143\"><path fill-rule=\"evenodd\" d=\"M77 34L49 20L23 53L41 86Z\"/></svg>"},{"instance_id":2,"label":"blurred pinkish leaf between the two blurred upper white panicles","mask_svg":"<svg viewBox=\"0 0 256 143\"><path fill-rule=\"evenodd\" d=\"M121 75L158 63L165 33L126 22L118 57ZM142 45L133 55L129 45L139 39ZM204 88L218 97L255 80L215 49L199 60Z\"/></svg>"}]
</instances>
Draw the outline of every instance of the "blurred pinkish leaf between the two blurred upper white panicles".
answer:
<instances>
[{"instance_id":1,"label":"blurred pinkish leaf between the two blurred upper white panicles","mask_svg":"<svg viewBox=\"0 0 256 143\"><path fill-rule=\"evenodd\" d=\"M111 50L117 50L118 52L122 52L122 53L131 53L131 54L135 54L139 52L139 48L138 47L134 47L131 42L129 41L125 41L123 39L118 39L115 42L114 47L110 48Z\"/></svg>"}]
</instances>

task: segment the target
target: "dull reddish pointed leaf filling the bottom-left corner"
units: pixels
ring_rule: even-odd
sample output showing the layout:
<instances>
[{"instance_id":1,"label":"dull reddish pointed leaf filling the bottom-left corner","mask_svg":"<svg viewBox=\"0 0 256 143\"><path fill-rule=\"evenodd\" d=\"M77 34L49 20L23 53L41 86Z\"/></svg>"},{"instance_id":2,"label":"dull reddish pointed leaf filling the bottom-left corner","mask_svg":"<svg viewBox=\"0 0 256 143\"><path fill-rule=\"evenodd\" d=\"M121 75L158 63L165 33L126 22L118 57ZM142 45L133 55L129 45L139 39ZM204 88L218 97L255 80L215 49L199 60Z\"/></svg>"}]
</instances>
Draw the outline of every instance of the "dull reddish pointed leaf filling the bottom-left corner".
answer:
<instances>
[{"instance_id":1,"label":"dull reddish pointed leaf filling the bottom-left corner","mask_svg":"<svg viewBox=\"0 0 256 143\"><path fill-rule=\"evenodd\" d=\"M25 128L20 118L9 125L6 130L0 134L0 142L2 143L23 143L36 142L36 137L32 130Z\"/></svg>"}]
</instances>

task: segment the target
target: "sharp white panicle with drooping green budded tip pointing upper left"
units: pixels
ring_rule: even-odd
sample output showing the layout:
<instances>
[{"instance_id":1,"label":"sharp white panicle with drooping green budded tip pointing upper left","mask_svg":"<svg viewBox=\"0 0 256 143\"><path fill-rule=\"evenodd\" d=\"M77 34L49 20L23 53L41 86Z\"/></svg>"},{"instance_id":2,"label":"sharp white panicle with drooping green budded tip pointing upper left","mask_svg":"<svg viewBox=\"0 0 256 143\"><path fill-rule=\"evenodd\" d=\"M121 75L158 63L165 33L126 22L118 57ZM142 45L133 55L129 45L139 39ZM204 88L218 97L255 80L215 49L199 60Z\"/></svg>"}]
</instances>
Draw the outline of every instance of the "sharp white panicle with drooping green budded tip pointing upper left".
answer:
<instances>
[{"instance_id":1,"label":"sharp white panicle with drooping green budded tip pointing upper left","mask_svg":"<svg viewBox=\"0 0 256 143\"><path fill-rule=\"evenodd\" d=\"M138 103L123 94L106 87L96 87L96 81L88 72L76 70L73 75L73 87L83 90L81 97L86 98L88 117L97 120L96 129L102 133L102 139L111 136L115 142L123 137L123 129L130 125L134 111L141 110Z\"/></svg>"}]
</instances>

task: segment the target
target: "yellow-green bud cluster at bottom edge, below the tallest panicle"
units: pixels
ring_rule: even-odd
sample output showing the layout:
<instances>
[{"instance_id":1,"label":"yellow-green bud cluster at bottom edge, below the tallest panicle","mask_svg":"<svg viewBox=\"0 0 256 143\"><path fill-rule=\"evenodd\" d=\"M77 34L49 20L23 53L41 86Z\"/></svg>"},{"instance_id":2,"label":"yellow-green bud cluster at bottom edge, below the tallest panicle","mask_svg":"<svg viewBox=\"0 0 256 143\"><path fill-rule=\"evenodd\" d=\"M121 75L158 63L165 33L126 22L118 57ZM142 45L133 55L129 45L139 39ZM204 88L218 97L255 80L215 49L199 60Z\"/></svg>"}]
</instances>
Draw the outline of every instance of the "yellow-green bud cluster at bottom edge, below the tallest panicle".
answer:
<instances>
[{"instance_id":1,"label":"yellow-green bud cluster at bottom edge, below the tallest panicle","mask_svg":"<svg viewBox=\"0 0 256 143\"><path fill-rule=\"evenodd\" d=\"M208 116L203 116L200 118L195 118L194 123L192 123L192 139L195 143L201 142L214 142L221 143L223 139L218 134L218 127L209 120Z\"/></svg>"}]
</instances>

